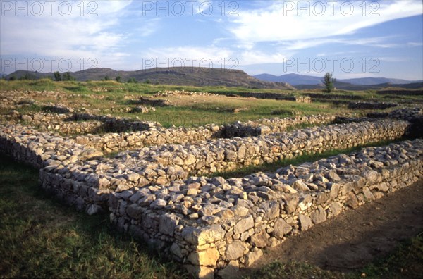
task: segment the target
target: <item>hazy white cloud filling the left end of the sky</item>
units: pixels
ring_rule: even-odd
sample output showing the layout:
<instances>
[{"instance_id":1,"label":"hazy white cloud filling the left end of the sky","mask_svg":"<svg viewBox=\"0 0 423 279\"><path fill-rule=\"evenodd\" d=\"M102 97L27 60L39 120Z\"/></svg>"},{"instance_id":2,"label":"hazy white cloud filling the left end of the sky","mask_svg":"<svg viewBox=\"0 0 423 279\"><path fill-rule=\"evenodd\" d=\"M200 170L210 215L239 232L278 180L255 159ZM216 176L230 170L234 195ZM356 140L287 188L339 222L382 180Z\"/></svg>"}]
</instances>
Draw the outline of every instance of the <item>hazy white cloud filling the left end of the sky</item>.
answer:
<instances>
[{"instance_id":1,"label":"hazy white cloud filling the left end of the sky","mask_svg":"<svg viewBox=\"0 0 423 279\"><path fill-rule=\"evenodd\" d=\"M18 4L22 7L25 3L30 1ZM71 61L95 58L100 64L108 65L122 55L118 48L123 45L125 35L112 28L118 25L119 17L131 1L64 1L54 2L50 7L47 2L39 3L43 5L42 13L31 6L27 6L27 16L25 11L19 11L16 16L15 7L2 11L2 57L54 57ZM65 4L61 6L61 3ZM71 8L68 4L72 4Z\"/></svg>"}]
</instances>

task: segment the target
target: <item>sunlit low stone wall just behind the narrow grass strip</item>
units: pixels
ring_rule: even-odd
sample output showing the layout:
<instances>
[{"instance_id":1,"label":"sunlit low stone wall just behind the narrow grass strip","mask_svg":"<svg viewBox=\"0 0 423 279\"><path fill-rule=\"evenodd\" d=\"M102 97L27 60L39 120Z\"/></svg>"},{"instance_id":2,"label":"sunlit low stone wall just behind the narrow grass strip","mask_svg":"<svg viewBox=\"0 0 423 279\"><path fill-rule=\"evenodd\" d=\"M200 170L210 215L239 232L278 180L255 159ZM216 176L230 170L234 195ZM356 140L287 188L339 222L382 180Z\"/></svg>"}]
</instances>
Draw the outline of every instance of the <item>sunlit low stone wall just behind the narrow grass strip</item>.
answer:
<instances>
[{"instance_id":1,"label":"sunlit low stone wall just behind the narrow grass strip","mask_svg":"<svg viewBox=\"0 0 423 279\"><path fill-rule=\"evenodd\" d=\"M405 134L407 125L400 120L378 120L297 130L277 137L267 135L209 140L198 144L163 144L121 152L113 159L92 159L72 168L52 166L42 172L85 181L88 186L99 190L122 192L133 187L168 185L186 179L188 175L271 163L305 152L320 153L367 142L393 140ZM48 183L49 187L50 184L51 187L61 187L59 178Z\"/></svg>"}]
</instances>

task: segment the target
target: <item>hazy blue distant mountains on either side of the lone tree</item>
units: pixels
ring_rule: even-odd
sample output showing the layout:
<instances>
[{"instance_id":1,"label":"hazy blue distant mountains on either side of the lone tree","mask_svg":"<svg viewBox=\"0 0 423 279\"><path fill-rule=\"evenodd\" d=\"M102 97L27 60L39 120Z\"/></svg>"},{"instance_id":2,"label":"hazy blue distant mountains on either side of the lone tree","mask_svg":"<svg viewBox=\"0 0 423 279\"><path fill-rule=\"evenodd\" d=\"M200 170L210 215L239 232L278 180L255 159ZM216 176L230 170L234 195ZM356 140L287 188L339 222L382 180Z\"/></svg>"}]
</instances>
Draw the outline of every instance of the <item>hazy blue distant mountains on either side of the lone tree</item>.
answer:
<instances>
[{"instance_id":1,"label":"hazy blue distant mountains on either side of the lone tree","mask_svg":"<svg viewBox=\"0 0 423 279\"><path fill-rule=\"evenodd\" d=\"M254 77L259 80L266 80L269 82L288 82L290 85L319 85L321 84L321 77L314 77L311 75L298 75L298 74L287 74L287 75L269 75L261 74L254 75ZM351 85L381 85L383 83L392 83L396 85L405 85L409 83L422 82L422 80L400 80L396 78L386 78L386 77L361 77L361 78L351 78L347 80L338 80L338 82L347 82Z\"/></svg>"}]
</instances>

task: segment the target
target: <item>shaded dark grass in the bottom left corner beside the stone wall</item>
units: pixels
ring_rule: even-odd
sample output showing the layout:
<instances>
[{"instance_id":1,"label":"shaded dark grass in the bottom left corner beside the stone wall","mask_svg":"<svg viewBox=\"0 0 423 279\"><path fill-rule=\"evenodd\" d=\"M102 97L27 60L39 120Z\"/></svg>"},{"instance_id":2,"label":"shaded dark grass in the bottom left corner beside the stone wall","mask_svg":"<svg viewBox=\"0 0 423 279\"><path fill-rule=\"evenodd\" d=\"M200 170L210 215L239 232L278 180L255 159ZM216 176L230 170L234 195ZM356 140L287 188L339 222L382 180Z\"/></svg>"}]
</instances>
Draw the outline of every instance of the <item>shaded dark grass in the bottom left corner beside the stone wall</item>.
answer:
<instances>
[{"instance_id":1,"label":"shaded dark grass in the bottom left corner beside the stone wall","mask_svg":"<svg viewBox=\"0 0 423 279\"><path fill-rule=\"evenodd\" d=\"M108 219L51 199L37 170L0 156L1 278L187 277Z\"/></svg>"}]
</instances>

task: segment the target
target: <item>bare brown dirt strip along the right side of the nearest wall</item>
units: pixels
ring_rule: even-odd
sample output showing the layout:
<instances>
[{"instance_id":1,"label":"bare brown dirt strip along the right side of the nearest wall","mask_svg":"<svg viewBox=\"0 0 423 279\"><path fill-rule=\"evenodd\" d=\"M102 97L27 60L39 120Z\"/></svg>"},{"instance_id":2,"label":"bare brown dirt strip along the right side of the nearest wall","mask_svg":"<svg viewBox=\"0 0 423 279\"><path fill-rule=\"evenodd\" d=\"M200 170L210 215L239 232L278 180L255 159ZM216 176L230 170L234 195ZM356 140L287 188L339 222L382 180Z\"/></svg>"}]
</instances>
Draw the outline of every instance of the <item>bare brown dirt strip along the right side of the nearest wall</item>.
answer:
<instances>
[{"instance_id":1,"label":"bare brown dirt strip along the right side of the nearest wall","mask_svg":"<svg viewBox=\"0 0 423 279\"><path fill-rule=\"evenodd\" d=\"M422 232L423 181L419 181L288 238L268 249L265 256L242 273L276 260L306 261L324 269L350 271Z\"/></svg>"}]
</instances>

